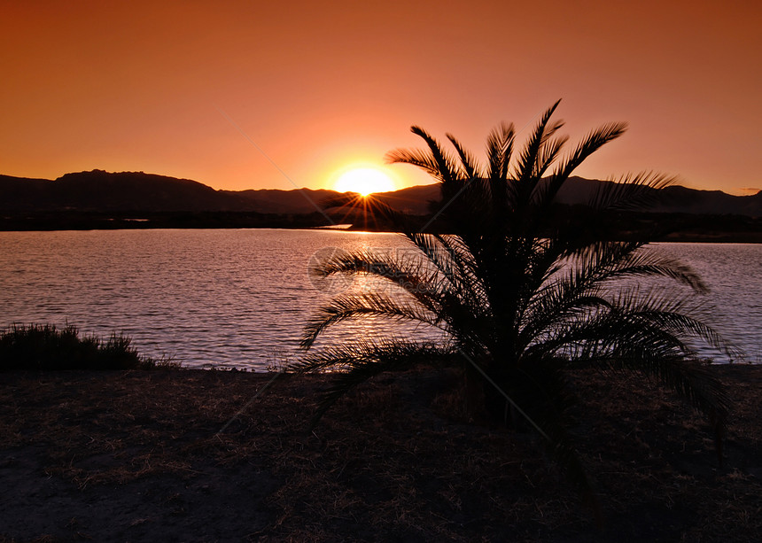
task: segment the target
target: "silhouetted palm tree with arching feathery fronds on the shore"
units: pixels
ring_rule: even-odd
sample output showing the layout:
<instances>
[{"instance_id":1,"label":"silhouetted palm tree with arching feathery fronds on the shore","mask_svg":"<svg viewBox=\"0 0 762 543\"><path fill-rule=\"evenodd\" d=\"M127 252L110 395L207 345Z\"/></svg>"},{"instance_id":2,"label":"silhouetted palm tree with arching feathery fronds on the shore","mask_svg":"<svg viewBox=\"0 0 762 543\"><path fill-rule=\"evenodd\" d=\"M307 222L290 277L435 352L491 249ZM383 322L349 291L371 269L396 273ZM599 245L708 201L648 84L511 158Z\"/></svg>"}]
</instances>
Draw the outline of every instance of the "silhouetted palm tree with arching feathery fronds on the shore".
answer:
<instances>
[{"instance_id":1,"label":"silhouetted palm tree with arching feathery fronds on the shore","mask_svg":"<svg viewBox=\"0 0 762 543\"><path fill-rule=\"evenodd\" d=\"M445 340L357 339L309 351L293 369L341 370L315 420L379 373L462 364L471 383L483 384L486 410L514 428L540 434L589 495L564 425L564 376L585 366L657 377L707 415L721 437L727 396L690 345L704 342L727 353L733 347L704 323L694 296L706 291L704 283L687 266L650 251L645 236L606 238L611 212L648 204L654 189L673 179L644 173L603 183L583 213L571 223L559 221L556 201L564 182L626 125L597 128L562 156L563 122L551 122L557 105L542 115L517 153L513 125L495 128L486 141L486 165L454 136L447 135L455 151L448 152L418 127L412 131L423 138L424 150L388 154L391 162L423 168L439 181L442 200L436 221L428 225L434 233L413 231L405 216L377 202L376 212L395 221L416 257L358 251L320 263L315 275L374 275L393 289L334 297L308 323L301 345L309 350L327 328L369 317L424 323L441 330ZM654 277L661 282L643 281Z\"/></svg>"}]
</instances>

